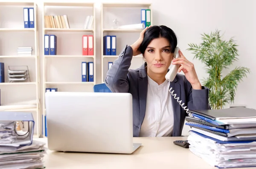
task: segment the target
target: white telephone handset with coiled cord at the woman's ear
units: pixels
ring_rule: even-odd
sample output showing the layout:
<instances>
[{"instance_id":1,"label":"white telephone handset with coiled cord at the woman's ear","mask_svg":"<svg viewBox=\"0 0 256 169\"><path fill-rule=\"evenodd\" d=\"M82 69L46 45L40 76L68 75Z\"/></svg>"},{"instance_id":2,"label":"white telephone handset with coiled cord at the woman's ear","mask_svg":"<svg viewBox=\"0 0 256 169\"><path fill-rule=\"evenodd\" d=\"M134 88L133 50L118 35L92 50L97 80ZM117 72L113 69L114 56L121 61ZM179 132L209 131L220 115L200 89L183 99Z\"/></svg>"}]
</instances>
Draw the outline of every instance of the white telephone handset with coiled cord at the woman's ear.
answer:
<instances>
[{"instance_id":1,"label":"white telephone handset with coiled cord at the woman's ear","mask_svg":"<svg viewBox=\"0 0 256 169\"><path fill-rule=\"evenodd\" d=\"M179 50L180 50L179 47L175 48L175 51L173 53L174 58L180 57ZM179 67L180 67L180 64L172 65L169 72L167 72L167 74L165 76L166 80L172 82L177 75ZM172 90L172 87L170 88L170 86L171 86L171 83L169 83L169 92L177 100L177 102L180 104L180 106L188 113L189 109L186 109L187 106L183 106L185 103L181 104L182 100L179 100L180 97L176 97L176 94L173 94L174 90Z\"/></svg>"}]
</instances>

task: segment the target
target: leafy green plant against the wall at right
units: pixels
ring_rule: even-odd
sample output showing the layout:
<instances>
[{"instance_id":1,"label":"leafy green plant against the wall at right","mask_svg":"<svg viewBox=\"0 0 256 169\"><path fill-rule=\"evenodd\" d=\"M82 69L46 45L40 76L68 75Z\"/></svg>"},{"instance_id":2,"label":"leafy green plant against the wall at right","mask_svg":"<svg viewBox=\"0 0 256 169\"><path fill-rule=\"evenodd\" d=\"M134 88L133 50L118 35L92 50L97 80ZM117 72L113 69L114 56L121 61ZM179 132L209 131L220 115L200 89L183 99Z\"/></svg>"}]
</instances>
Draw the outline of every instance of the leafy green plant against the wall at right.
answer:
<instances>
[{"instance_id":1,"label":"leafy green plant against the wall at right","mask_svg":"<svg viewBox=\"0 0 256 169\"><path fill-rule=\"evenodd\" d=\"M212 109L223 109L227 103L233 103L236 89L243 77L247 77L250 69L236 67L226 76L222 75L224 69L238 60L238 49L233 38L223 40L220 31L210 34L201 34L203 41L199 45L190 43L187 50L195 54L194 58L206 65L207 78L202 85L209 88L209 104Z\"/></svg>"}]
</instances>

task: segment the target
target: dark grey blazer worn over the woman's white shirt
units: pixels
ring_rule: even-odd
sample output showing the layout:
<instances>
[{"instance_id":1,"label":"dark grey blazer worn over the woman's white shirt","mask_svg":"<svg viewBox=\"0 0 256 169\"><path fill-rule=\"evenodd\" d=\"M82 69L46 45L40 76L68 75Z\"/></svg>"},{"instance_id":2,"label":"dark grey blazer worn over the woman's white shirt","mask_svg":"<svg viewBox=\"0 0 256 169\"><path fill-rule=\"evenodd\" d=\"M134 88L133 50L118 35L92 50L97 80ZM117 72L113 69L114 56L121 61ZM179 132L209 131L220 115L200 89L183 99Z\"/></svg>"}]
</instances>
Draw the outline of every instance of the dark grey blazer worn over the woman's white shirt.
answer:
<instances>
[{"instance_id":1,"label":"dark grey blazer worn over the woman's white shirt","mask_svg":"<svg viewBox=\"0 0 256 169\"><path fill-rule=\"evenodd\" d=\"M126 46L108 70L105 84L112 92L131 93L133 97L133 136L139 137L140 128L145 117L148 77L145 69L146 63L139 69L129 69L132 57L133 50L131 46ZM175 91L174 93L177 94L176 97L180 97L187 108L194 110L210 109L208 103L209 89L206 87L202 86L201 90L192 89L191 84L182 74L177 74L175 80L170 83ZM173 96L172 103L174 109L172 136L181 136L187 113Z\"/></svg>"}]
</instances>

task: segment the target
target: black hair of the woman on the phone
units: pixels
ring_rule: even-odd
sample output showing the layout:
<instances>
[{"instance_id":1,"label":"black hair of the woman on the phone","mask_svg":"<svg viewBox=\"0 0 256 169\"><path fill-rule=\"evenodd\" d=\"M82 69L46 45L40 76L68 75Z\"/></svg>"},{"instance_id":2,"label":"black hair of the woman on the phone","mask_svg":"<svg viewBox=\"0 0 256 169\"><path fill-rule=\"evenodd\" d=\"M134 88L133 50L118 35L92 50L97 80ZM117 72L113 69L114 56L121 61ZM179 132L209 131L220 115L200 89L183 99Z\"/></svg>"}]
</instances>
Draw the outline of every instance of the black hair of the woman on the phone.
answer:
<instances>
[{"instance_id":1,"label":"black hair of the woman on the phone","mask_svg":"<svg viewBox=\"0 0 256 169\"><path fill-rule=\"evenodd\" d=\"M173 32L172 29L168 28L167 26L161 25L161 26L151 26L145 31L143 41L140 44L140 48L139 48L140 52L144 54L151 40L158 37L166 38L170 43L171 52L173 53L175 51L175 48L177 46L177 37L175 33Z\"/></svg>"}]
</instances>

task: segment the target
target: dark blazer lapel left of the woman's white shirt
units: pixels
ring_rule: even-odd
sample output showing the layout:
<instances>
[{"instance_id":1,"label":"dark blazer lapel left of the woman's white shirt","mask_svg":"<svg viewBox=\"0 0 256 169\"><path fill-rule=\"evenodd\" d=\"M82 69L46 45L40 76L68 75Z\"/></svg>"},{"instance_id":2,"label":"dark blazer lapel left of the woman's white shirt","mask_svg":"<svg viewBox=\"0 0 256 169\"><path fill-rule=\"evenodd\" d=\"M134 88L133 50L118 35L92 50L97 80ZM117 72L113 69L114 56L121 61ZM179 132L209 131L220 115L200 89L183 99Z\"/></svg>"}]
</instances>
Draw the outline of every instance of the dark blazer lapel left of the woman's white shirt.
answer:
<instances>
[{"instance_id":1,"label":"dark blazer lapel left of the woman's white shirt","mask_svg":"<svg viewBox=\"0 0 256 169\"><path fill-rule=\"evenodd\" d=\"M145 69L146 63L143 64L139 69L140 77L138 78L139 86L139 98L140 98L140 124L143 123L145 112L146 112L146 102L147 102L147 92L148 92L148 77Z\"/></svg>"}]
</instances>

